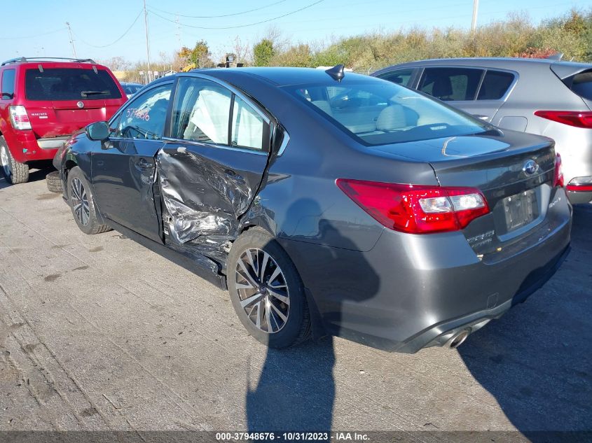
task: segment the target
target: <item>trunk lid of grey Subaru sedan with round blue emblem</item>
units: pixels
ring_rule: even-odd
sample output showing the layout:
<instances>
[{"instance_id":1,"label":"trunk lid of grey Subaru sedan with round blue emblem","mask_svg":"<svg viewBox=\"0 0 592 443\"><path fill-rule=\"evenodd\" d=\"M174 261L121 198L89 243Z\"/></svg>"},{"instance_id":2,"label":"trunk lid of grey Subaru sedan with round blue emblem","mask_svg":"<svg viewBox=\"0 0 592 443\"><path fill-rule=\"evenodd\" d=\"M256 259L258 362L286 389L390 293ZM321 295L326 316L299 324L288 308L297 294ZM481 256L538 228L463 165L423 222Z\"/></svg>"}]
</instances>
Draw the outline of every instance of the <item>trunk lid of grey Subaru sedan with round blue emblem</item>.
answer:
<instances>
[{"instance_id":1,"label":"trunk lid of grey Subaru sedan with round blue emblem","mask_svg":"<svg viewBox=\"0 0 592 443\"><path fill-rule=\"evenodd\" d=\"M401 143L395 150L429 163L441 186L477 188L483 193L491 212L464 229L477 253L528 235L544 220L553 190L551 139L506 130L490 134L495 135ZM393 152L393 146L388 148Z\"/></svg>"}]
</instances>

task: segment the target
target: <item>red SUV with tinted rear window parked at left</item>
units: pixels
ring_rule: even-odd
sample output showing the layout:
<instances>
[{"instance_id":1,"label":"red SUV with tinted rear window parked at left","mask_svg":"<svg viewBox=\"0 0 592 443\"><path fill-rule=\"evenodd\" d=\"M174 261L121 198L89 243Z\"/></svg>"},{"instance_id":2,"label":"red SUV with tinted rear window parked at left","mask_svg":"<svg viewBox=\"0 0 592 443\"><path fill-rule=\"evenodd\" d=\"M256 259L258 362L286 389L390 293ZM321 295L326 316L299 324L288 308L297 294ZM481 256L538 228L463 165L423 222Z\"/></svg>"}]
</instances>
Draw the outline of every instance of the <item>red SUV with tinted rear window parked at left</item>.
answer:
<instances>
[{"instance_id":1,"label":"red SUV with tinted rear window parked at left","mask_svg":"<svg viewBox=\"0 0 592 443\"><path fill-rule=\"evenodd\" d=\"M11 183L25 183L29 165L52 160L70 134L109 120L127 99L90 59L12 59L0 78L0 164Z\"/></svg>"}]
</instances>

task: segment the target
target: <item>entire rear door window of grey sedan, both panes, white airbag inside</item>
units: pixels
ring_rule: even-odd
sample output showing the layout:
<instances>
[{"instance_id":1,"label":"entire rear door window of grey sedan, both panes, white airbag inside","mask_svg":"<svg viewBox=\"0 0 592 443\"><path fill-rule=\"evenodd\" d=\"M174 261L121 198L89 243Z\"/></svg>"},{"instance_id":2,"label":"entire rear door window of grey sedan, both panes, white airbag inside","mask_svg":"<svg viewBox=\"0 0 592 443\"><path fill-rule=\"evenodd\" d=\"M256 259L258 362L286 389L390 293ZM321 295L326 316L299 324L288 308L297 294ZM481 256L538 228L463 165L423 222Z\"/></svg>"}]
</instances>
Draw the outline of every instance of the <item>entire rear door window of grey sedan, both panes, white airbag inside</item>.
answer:
<instances>
[{"instance_id":1,"label":"entire rear door window of grey sedan, both panes, white airbag inside","mask_svg":"<svg viewBox=\"0 0 592 443\"><path fill-rule=\"evenodd\" d=\"M263 150L266 123L226 87L205 78L179 80L172 137L235 148Z\"/></svg>"}]
</instances>

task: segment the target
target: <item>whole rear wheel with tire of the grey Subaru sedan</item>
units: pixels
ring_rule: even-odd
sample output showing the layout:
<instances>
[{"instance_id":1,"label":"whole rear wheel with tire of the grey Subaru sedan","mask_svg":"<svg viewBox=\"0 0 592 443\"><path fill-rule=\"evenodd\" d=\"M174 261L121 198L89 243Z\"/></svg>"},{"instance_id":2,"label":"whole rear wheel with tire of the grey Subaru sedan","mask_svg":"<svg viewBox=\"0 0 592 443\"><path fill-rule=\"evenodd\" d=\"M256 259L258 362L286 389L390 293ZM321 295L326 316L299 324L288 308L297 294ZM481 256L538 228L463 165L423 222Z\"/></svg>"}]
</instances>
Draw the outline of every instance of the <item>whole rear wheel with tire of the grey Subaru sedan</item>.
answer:
<instances>
[{"instance_id":1,"label":"whole rear wheel with tire of the grey Subaru sedan","mask_svg":"<svg viewBox=\"0 0 592 443\"><path fill-rule=\"evenodd\" d=\"M226 269L230 300L250 335L277 349L308 338L310 314L300 276L268 232L254 227L241 234Z\"/></svg>"}]
</instances>

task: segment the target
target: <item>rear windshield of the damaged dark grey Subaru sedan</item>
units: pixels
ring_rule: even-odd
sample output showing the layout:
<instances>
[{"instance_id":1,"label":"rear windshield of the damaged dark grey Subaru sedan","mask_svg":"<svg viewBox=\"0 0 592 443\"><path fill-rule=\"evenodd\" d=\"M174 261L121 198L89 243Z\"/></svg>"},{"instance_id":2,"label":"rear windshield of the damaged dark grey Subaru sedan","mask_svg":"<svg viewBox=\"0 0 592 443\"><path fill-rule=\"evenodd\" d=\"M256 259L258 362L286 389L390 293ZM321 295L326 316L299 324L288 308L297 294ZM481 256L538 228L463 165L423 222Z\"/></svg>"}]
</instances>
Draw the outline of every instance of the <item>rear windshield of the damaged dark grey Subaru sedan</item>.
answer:
<instances>
[{"instance_id":1,"label":"rear windshield of the damaged dark grey Subaru sedan","mask_svg":"<svg viewBox=\"0 0 592 443\"><path fill-rule=\"evenodd\" d=\"M488 129L476 118L387 81L299 85L291 93L367 145L478 134Z\"/></svg>"}]
</instances>

